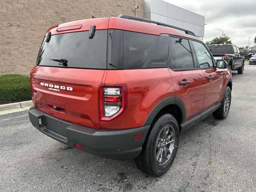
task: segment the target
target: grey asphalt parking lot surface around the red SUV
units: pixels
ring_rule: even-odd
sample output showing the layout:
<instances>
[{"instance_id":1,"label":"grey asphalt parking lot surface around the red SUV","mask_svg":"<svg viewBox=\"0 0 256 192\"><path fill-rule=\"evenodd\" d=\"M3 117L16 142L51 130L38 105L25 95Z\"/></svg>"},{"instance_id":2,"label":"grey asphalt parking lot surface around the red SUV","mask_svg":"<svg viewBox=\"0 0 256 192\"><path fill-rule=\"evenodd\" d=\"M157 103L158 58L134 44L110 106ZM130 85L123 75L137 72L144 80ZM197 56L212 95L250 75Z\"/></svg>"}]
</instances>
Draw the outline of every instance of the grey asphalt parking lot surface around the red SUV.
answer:
<instances>
[{"instance_id":1,"label":"grey asphalt parking lot surface around the red SUV","mask_svg":"<svg viewBox=\"0 0 256 192\"><path fill-rule=\"evenodd\" d=\"M134 162L69 148L38 130L28 112L0 116L0 191L256 191L256 65L232 72L226 120L209 116L180 136L174 163L161 178Z\"/></svg>"}]
</instances>

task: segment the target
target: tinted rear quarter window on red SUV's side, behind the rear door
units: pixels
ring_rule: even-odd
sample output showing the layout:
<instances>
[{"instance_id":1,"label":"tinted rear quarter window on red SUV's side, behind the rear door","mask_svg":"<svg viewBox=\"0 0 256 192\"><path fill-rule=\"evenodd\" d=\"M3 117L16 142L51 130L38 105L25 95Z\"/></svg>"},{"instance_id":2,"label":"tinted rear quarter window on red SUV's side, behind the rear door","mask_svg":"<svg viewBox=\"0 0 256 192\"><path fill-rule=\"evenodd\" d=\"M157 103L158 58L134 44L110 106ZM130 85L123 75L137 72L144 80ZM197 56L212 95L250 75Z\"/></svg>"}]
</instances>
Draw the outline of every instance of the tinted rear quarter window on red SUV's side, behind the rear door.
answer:
<instances>
[{"instance_id":1,"label":"tinted rear quarter window on red SUV's side, behind the rear door","mask_svg":"<svg viewBox=\"0 0 256 192\"><path fill-rule=\"evenodd\" d=\"M124 31L124 69L141 68L158 36Z\"/></svg>"}]
</instances>

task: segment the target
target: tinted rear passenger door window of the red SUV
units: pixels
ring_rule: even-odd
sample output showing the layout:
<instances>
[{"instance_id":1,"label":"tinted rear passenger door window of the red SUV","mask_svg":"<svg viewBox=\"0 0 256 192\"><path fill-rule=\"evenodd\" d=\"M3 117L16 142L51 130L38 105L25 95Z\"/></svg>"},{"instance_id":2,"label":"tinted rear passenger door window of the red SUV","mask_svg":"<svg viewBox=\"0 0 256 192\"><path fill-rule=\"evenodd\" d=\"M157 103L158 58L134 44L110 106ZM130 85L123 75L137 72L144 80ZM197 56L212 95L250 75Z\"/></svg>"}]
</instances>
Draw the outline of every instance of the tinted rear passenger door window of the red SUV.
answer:
<instances>
[{"instance_id":1,"label":"tinted rear passenger door window of the red SUV","mask_svg":"<svg viewBox=\"0 0 256 192\"><path fill-rule=\"evenodd\" d=\"M171 37L170 37L171 38ZM188 40L182 38L171 38L171 61L172 69L194 68L192 53Z\"/></svg>"}]
</instances>

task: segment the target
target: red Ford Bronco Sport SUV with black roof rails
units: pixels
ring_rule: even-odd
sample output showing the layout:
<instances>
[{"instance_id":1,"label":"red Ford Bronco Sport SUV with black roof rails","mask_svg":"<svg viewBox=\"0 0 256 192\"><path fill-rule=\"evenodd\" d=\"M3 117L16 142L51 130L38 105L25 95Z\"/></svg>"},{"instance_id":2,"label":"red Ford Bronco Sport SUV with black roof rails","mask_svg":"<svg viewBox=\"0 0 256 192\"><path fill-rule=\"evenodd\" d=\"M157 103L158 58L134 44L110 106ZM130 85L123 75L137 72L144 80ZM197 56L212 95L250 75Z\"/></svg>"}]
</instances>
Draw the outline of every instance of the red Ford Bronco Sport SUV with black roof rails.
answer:
<instances>
[{"instance_id":1,"label":"red Ford Bronco Sport SUV with black roof rails","mask_svg":"<svg viewBox=\"0 0 256 192\"><path fill-rule=\"evenodd\" d=\"M171 166L179 134L224 119L232 77L193 32L120 15L53 26L30 74L32 125L64 144L150 176Z\"/></svg>"}]
</instances>

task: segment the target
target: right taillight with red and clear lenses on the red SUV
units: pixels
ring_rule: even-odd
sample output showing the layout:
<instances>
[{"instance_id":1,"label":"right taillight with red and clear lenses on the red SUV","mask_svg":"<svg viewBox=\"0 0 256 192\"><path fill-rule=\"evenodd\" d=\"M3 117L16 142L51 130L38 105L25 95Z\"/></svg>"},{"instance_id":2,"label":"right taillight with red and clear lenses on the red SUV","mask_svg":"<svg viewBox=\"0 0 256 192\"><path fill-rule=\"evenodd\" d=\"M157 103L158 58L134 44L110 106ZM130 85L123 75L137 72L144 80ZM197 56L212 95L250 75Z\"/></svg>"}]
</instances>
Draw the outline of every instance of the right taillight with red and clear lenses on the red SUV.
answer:
<instances>
[{"instance_id":1,"label":"right taillight with red and clear lenses on the red SUV","mask_svg":"<svg viewBox=\"0 0 256 192\"><path fill-rule=\"evenodd\" d=\"M125 84L99 86L100 120L110 122L124 112L128 104L127 87Z\"/></svg>"}]
</instances>

